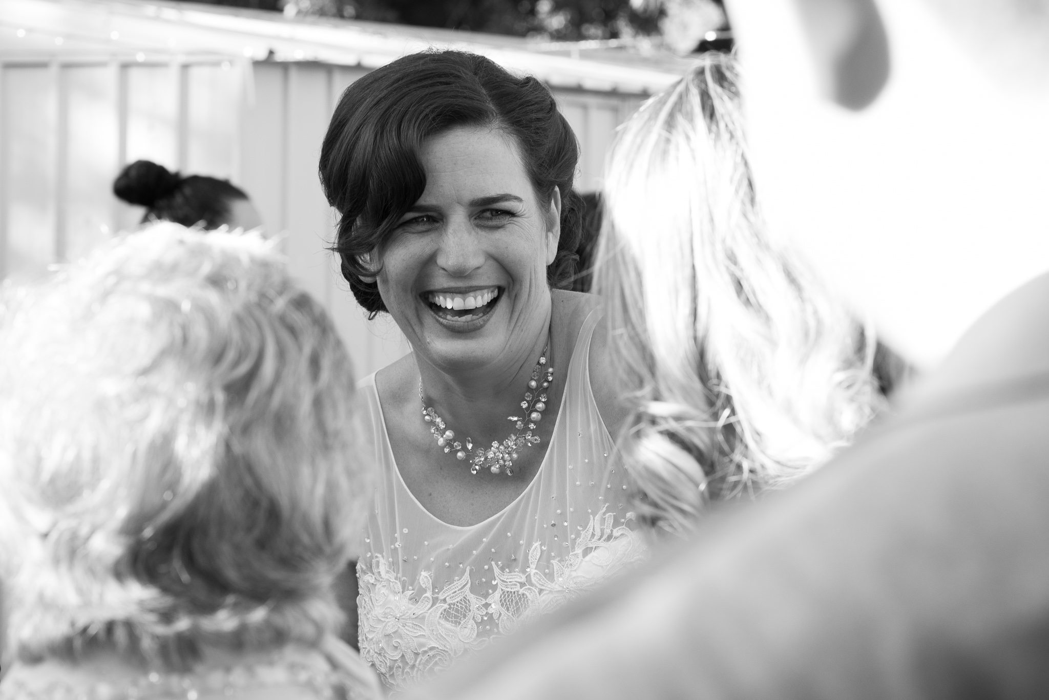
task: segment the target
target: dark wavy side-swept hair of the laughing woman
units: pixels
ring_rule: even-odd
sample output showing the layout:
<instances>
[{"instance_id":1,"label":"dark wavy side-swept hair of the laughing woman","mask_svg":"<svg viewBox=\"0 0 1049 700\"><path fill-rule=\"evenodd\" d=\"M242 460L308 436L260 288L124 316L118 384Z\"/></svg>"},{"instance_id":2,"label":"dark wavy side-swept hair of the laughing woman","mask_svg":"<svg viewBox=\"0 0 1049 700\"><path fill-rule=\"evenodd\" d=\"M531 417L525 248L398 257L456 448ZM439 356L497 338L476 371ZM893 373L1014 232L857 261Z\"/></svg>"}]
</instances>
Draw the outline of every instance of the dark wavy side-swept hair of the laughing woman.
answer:
<instances>
[{"instance_id":1,"label":"dark wavy side-swept hair of the laughing woman","mask_svg":"<svg viewBox=\"0 0 1049 700\"><path fill-rule=\"evenodd\" d=\"M554 96L474 54L424 51L373 70L346 88L321 147L324 194L339 212L331 250L370 317L386 311L374 282L401 216L423 195L423 143L454 127L492 126L513 136L536 198L561 194L561 237L547 269L551 287L576 272L581 200L573 192L579 144Z\"/></svg>"}]
</instances>

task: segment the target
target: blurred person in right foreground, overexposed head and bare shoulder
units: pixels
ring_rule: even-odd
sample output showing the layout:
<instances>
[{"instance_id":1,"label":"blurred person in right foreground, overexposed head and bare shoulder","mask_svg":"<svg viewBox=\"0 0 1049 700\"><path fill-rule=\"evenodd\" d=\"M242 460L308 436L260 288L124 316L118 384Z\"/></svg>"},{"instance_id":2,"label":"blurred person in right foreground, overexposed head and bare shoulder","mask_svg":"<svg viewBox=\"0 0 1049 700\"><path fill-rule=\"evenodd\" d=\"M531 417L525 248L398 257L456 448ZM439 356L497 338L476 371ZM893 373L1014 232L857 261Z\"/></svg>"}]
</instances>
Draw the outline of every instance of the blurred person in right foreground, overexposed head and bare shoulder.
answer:
<instances>
[{"instance_id":1,"label":"blurred person in right foreground, overexposed head and bare shoulder","mask_svg":"<svg viewBox=\"0 0 1049 700\"><path fill-rule=\"evenodd\" d=\"M770 227L935 369L430 697L1046 697L1049 4L727 4Z\"/></svg>"}]
</instances>

